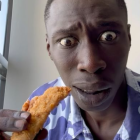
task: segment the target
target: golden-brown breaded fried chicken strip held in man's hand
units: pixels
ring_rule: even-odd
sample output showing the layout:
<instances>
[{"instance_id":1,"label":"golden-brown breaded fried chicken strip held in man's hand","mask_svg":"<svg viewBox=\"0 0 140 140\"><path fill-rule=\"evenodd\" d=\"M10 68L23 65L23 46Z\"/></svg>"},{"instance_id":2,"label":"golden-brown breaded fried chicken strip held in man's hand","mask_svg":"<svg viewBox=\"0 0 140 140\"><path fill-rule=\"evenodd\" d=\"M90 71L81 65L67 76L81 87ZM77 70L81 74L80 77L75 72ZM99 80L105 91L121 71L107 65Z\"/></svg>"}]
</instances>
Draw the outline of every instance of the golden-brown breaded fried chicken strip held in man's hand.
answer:
<instances>
[{"instance_id":1,"label":"golden-brown breaded fried chicken strip held in man's hand","mask_svg":"<svg viewBox=\"0 0 140 140\"><path fill-rule=\"evenodd\" d=\"M70 90L69 87L51 87L43 95L35 96L31 101L27 100L22 106L22 111L31 113L28 127L24 131L14 132L11 140L33 140L42 129L49 113L68 95Z\"/></svg>"}]
</instances>

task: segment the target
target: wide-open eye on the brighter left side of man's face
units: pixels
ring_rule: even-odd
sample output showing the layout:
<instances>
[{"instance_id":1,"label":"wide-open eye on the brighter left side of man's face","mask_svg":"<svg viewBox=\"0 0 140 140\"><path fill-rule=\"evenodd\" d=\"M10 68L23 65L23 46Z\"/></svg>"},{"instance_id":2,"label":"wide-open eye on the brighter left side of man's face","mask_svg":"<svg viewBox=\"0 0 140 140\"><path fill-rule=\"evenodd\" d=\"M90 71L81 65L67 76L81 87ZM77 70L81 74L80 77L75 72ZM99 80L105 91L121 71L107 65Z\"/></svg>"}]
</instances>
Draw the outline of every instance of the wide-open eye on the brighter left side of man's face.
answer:
<instances>
[{"instance_id":1,"label":"wide-open eye on the brighter left side of man's face","mask_svg":"<svg viewBox=\"0 0 140 140\"><path fill-rule=\"evenodd\" d=\"M60 40L60 44L64 47L73 47L78 41L73 37L66 37Z\"/></svg>"}]
</instances>

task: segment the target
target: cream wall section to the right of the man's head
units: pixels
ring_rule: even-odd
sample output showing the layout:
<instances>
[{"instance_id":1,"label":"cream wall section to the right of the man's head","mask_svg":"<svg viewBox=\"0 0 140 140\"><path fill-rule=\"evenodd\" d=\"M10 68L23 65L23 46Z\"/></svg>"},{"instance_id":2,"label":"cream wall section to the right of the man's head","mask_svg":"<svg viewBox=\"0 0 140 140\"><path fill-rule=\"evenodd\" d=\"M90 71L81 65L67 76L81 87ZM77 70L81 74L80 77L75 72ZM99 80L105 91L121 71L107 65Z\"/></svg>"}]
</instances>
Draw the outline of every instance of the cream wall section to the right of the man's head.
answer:
<instances>
[{"instance_id":1,"label":"cream wall section to the right of the man's head","mask_svg":"<svg viewBox=\"0 0 140 140\"><path fill-rule=\"evenodd\" d=\"M127 66L140 73L140 0L126 0L131 24L132 46Z\"/></svg>"}]
</instances>

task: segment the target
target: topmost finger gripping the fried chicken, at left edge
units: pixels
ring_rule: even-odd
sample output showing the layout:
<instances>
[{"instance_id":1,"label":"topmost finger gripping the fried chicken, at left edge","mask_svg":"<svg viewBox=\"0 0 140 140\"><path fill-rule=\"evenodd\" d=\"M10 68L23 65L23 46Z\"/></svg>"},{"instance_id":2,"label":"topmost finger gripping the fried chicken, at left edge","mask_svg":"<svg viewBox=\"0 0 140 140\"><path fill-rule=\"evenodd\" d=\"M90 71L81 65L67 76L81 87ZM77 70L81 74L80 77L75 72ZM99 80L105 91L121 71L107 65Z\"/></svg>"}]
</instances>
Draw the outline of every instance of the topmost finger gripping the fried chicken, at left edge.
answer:
<instances>
[{"instance_id":1,"label":"topmost finger gripping the fried chicken, at left edge","mask_svg":"<svg viewBox=\"0 0 140 140\"><path fill-rule=\"evenodd\" d=\"M30 113L25 112L25 111L1 109L0 110L0 117L14 117L14 118L28 119L30 117Z\"/></svg>"}]
</instances>

